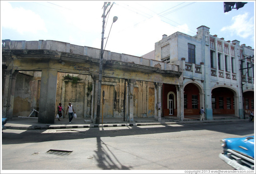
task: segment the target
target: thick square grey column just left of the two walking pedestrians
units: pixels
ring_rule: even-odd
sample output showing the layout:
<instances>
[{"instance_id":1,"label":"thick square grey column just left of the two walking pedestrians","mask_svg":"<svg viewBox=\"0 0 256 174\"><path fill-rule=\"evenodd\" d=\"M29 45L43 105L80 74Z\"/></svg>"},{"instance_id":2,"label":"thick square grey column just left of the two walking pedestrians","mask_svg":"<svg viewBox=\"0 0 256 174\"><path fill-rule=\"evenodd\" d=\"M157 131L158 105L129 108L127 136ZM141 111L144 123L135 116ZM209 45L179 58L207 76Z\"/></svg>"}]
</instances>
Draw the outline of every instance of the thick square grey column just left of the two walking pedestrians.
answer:
<instances>
[{"instance_id":1,"label":"thick square grey column just left of the two walking pedestrians","mask_svg":"<svg viewBox=\"0 0 256 174\"><path fill-rule=\"evenodd\" d=\"M52 69L42 70L38 123L54 123L57 76L58 71Z\"/></svg>"}]
</instances>

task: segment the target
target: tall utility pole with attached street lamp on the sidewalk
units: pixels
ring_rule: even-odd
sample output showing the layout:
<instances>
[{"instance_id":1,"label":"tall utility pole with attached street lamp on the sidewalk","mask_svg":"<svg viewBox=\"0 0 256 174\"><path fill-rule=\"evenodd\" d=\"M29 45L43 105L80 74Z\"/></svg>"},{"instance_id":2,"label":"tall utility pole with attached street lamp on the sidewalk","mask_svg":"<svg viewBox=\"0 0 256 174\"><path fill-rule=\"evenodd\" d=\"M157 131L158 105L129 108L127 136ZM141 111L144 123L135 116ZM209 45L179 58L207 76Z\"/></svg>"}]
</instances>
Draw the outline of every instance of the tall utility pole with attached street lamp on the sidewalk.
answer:
<instances>
[{"instance_id":1,"label":"tall utility pole with attached street lamp on the sidewalk","mask_svg":"<svg viewBox=\"0 0 256 174\"><path fill-rule=\"evenodd\" d=\"M114 3L113 3L114 4ZM113 4L111 5L111 7L113 6ZM101 38L101 57L100 57L100 69L99 69L99 83L98 83L98 96L97 96L97 110L96 110L96 121L95 123L96 124L100 124L100 107L101 107L101 82L102 82L102 64L103 64L103 53L104 53L104 50L103 50L103 44L104 44L104 26L105 26L105 18L106 18L106 15L105 15L105 11L108 7L108 5L110 5L110 3L107 4L107 2L104 2L104 9L103 9L103 15L102 15L102 18L103 18L103 21L102 21L102 38ZM113 17L113 22L112 22L112 25L113 23L118 19L117 16L114 16ZM111 27L112 27L111 25ZM111 30L111 28L110 28ZM110 33L110 30L109 30L109 33ZM109 35L109 34L108 34ZM108 42L108 39L107 39L107 42ZM106 42L106 44L107 44ZM105 45L106 47L106 45Z\"/></svg>"}]
</instances>

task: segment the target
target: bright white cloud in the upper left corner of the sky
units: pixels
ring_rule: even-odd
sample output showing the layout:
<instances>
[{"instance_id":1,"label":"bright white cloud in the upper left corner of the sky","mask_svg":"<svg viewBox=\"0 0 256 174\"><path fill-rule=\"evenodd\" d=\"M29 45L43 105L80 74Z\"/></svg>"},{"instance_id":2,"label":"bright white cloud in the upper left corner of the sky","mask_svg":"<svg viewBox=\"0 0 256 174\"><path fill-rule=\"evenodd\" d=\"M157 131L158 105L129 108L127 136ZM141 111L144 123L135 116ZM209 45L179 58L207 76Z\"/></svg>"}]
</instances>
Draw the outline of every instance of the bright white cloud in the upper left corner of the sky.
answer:
<instances>
[{"instance_id":1,"label":"bright white cloud in the upper left corner of the sky","mask_svg":"<svg viewBox=\"0 0 256 174\"><path fill-rule=\"evenodd\" d=\"M1 1L1 26L14 29L20 34L24 32L47 32L44 20L31 10L13 8L10 3Z\"/></svg>"}]
</instances>

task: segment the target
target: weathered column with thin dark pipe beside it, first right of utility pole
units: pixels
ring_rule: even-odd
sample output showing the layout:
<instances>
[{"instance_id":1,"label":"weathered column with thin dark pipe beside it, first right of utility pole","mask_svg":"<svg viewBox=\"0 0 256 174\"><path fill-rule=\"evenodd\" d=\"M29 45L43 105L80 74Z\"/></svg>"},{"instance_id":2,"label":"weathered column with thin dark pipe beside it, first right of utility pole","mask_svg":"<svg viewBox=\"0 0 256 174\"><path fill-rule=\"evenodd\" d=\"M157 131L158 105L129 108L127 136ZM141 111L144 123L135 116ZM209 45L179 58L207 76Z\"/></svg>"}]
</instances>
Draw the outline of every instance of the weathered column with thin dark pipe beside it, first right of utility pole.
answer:
<instances>
[{"instance_id":1,"label":"weathered column with thin dark pipe beside it, first right of utility pole","mask_svg":"<svg viewBox=\"0 0 256 174\"><path fill-rule=\"evenodd\" d=\"M133 121L133 88L136 80L129 79L126 97L126 121Z\"/></svg>"}]
</instances>

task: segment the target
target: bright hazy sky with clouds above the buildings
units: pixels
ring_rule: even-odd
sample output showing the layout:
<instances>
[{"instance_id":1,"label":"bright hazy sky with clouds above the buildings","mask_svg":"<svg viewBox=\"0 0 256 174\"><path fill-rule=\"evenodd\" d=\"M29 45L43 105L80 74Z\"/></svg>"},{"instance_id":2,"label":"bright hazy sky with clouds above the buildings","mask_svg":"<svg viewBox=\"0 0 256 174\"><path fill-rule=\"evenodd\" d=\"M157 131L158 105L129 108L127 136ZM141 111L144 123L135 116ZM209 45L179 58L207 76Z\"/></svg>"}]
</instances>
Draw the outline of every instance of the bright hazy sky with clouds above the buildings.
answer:
<instances>
[{"instance_id":1,"label":"bright hazy sky with clouds above the buildings","mask_svg":"<svg viewBox=\"0 0 256 174\"><path fill-rule=\"evenodd\" d=\"M222 1L115 1L110 4L104 48L142 56L179 31L195 36L199 26L225 41L255 47L255 1L224 13ZM104 1L0 1L1 38L56 40L101 48ZM110 7L110 6L108 6ZM118 20L113 22L113 16ZM111 27L112 25L112 27ZM111 29L111 30L110 30Z\"/></svg>"}]
</instances>

